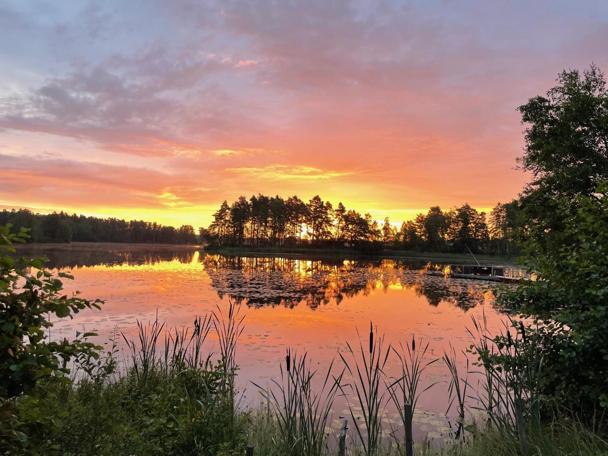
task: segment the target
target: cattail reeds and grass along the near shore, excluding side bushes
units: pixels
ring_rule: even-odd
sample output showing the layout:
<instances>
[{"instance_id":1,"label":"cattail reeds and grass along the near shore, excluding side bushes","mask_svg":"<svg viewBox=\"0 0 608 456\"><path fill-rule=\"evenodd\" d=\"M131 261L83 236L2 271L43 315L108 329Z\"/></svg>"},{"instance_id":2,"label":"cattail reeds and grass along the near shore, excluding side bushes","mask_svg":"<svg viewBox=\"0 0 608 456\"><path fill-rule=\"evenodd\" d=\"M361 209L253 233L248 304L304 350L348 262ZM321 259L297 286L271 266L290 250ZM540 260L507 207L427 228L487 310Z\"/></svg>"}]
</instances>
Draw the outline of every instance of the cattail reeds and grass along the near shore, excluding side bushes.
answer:
<instances>
[{"instance_id":1,"label":"cattail reeds and grass along the near shore, excluding side bushes","mask_svg":"<svg viewBox=\"0 0 608 456\"><path fill-rule=\"evenodd\" d=\"M27 429L31 454L232 456L253 443L256 455L337 455L339 429L332 423L338 401L346 401L350 412L347 455L608 454L601 436L567 415L548 424L540 420L542 357L534 334L521 328L510 321L496 338L483 320L473 320L471 366L471 353L451 348L434 358L429 342L414 337L405 345L387 345L370 322L369 337L357 331L358 346L347 343L324 373L311 368L306 353L288 348L278 367L280 380L254 384L262 402L251 408L240 401L236 387L244 329L239 306L218 307L190 328L138 322L134 340L122 334L128 355L123 373L117 372L114 343L95 368L80 368L78 381L49 387L31 406L55 416L50 427ZM217 353L207 348L211 333ZM510 364L497 370L493 355L510 356ZM399 368L396 376L385 373L389 359ZM435 363L445 365L449 381L426 378ZM469 373L481 375L477 388L469 384ZM442 386L447 410L457 415L452 438L432 444L415 436L412 447L407 430L415 424L418 400L431 388L440 394ZM386 407L396 410L397 425L383 423ZM564 432L572 438L563 438Z\"/></svg>"}]
</instances>

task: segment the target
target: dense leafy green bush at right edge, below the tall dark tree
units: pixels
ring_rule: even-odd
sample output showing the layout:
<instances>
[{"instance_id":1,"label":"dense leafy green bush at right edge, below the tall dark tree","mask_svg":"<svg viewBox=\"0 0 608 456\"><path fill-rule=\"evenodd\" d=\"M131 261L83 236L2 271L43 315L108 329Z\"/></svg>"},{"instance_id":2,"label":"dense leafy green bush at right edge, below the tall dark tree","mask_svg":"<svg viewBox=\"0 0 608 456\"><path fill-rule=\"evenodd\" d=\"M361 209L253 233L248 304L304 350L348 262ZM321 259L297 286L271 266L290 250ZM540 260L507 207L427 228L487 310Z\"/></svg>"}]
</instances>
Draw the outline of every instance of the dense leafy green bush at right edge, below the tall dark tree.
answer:
<instances>
[{"instance_id":1,"label":"dense leafy green bush at right edge, below the tall dark tree","mask_svg":"<svg viewBox=\"0 0 608 456\"><path fill-rule=\"evenodd\" d=\"M562 242L546 247L539 241L544 232L532 232L525 261L537 280L500 300L533 319L525 331L540 340L539 392L591 416L608 405L608 183L592 196L553 198L551 204L564 221L551 235Z\"/></svg>"}]
</instances>

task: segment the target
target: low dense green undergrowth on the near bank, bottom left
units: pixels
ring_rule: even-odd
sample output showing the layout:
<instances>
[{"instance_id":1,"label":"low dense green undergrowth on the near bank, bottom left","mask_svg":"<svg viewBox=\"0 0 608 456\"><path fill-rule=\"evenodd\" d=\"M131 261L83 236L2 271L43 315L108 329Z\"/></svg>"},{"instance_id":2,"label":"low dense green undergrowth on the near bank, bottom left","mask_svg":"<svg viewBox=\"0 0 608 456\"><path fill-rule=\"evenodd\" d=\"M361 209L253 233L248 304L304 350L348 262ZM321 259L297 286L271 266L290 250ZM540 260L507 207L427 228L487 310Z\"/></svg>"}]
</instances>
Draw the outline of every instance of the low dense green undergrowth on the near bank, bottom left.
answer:
<instances>
[{"instance_id":1,"label":"low dense green undergrowth on the near bank, bottom left","mask_svg":"<svg viewBox=\"0 0 608 456\"><path fill-rule=\"evenodd\" d=\"M173 378L153 367L149 374L145 385L131 369L104 382L49 385L39 398L27 397L19 412L30 454L212 455L244 445L230 426L228 404L207 390L221 367Z\"/></svg>"}]
</instances>

